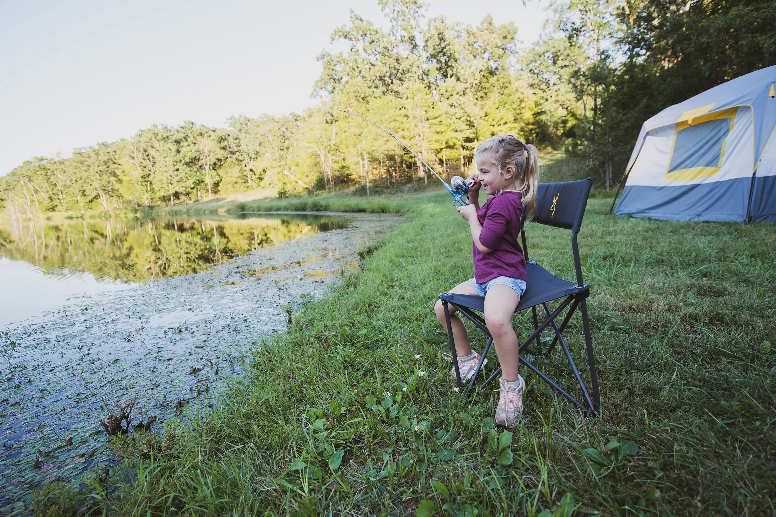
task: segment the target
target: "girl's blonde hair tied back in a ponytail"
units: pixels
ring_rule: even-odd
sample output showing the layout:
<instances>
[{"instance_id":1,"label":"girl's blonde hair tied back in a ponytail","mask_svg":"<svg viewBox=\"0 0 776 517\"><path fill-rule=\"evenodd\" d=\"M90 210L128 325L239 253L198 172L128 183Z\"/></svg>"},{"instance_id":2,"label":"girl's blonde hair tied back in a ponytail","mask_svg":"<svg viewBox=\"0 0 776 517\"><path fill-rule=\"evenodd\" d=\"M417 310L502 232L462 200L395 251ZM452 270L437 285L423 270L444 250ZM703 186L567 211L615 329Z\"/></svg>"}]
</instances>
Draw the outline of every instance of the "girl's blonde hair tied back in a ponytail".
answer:
<instances>
[{"instance_id":1,"label":"girl's blonde hair tied back in a ponytail","mask_svg":"<svg viewBox=\"0 0 776 517\"><path fill-rule=\"evenodd\" d=\"M536 212L536 191L539 188L539 151L531 143L522 143L517 136L493 136L477 147L475 157L490 153L486 160L492 162L499 176L510 165L514 169L512 178L502 190L511 187L520 192L523 204L523 220L528 222Z\"/></svg>"}]
</instances>

